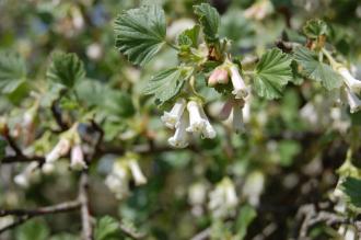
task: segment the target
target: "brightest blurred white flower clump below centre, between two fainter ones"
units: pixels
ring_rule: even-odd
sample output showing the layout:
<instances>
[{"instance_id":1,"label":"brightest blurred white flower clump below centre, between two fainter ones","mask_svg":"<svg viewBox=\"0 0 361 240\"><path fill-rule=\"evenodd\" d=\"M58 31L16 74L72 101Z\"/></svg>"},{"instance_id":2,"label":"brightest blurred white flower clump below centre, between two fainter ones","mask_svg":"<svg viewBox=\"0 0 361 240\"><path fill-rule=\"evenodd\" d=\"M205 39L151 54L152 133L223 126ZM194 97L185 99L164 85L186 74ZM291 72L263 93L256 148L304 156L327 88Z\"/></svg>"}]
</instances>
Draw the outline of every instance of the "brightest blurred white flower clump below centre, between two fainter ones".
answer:
<instances>
[{"instance_id":1,"label":"brightest blurred white flower clump below centre, between two fainter ones","mask_svg":"<svg viewBox=\"0 0 361 240\"><path fill-rule=\"evenodd\" d=\"M217 184L216 190L209 194L209 198L208 207L216 218L226 217L238 203L235 187L229 178Z\"/></svg>"}]
</instances>

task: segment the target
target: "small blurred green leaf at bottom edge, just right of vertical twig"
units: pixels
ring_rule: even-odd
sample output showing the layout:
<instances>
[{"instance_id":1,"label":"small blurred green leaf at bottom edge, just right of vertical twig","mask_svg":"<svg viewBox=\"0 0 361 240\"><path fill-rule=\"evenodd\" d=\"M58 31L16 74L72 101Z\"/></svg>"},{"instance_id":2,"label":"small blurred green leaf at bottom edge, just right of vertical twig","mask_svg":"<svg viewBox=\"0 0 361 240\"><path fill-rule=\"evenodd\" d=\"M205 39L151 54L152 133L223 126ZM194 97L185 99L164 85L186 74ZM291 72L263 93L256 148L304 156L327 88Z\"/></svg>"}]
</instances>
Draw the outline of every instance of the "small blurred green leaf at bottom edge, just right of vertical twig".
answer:
<instances>
[{"instance_id":1,"label":"small blurred green leaf at bottom edge, just right of vertical twig","mask_svg":"<svg viewBox=\"0 0 361 240\"><path fill-rule=\"evenodd\" d=\"M102 217L95 228L95 240L119 239L120 225L113 217Z\"/></svg>"}]
</instances>

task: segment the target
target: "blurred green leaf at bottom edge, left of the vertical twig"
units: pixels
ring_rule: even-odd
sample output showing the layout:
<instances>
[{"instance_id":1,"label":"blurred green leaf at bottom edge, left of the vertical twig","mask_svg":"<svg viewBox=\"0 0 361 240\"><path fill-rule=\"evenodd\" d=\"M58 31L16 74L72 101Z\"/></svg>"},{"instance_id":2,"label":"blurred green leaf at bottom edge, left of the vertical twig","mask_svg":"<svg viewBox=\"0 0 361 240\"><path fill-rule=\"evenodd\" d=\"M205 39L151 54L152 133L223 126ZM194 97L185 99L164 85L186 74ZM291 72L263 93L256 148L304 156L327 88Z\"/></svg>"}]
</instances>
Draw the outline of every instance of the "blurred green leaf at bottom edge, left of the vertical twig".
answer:
<instances>
[{"instance_id":1,"label":"blurred green leaf at bottom edge, left of the vertical twig","mask_svg":"<svg viewBox=\"0 0 361 240\"><path fill-rule=\"evenodd\" d=\"M48 240L49 233L45 221L33 219L19 227L16 230L16 240Z\"/></svg>"}]
</instances>

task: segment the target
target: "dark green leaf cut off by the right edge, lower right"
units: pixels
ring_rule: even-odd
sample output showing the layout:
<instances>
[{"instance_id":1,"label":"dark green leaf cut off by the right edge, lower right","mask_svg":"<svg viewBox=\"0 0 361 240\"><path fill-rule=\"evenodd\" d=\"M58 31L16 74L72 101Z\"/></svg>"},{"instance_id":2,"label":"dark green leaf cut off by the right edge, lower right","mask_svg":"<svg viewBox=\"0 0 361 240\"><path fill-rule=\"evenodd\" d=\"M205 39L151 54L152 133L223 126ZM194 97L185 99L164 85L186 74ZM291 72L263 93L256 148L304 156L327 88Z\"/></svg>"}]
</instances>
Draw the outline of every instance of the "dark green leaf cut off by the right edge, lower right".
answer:
<instances>
[{"instance_id":1,"label":"dark green leaf cut off by the right edge, lower right","mask_svg":"<svg viewBox=\"0 0 361 240\"><path fill-rule=\"evenodd\" d=\"M361 180L348 176L341 185L343 193L354 207L361 207Z\"/></svg>"}]
</instances>

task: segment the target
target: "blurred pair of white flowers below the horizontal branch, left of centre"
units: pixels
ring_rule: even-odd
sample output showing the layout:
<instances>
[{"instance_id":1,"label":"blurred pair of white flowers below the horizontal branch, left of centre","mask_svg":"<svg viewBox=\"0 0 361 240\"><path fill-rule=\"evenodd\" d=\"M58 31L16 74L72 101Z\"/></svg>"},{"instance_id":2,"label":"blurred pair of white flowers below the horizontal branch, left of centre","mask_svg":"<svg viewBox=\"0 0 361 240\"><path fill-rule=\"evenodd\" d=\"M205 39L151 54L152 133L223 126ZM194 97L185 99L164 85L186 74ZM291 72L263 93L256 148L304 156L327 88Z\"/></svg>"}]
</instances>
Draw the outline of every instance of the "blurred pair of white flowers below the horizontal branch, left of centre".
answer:
<instances>
[{"instance_id":1,"label":"blurred pair of white flowers below the horizontal branch, left of centre","mask_svg":"<svg viewBox=\"0 0 361 240\"><path fill-rule=\"evenodd\" d=\"M147 178L138 164L137 156L133 153L127 153L113 163L112 172L106 176L105 184L118 199L121 199L129 194L130 176L132 176L136 185L147 183Z\"/></svg>"}]
</instances>

